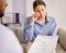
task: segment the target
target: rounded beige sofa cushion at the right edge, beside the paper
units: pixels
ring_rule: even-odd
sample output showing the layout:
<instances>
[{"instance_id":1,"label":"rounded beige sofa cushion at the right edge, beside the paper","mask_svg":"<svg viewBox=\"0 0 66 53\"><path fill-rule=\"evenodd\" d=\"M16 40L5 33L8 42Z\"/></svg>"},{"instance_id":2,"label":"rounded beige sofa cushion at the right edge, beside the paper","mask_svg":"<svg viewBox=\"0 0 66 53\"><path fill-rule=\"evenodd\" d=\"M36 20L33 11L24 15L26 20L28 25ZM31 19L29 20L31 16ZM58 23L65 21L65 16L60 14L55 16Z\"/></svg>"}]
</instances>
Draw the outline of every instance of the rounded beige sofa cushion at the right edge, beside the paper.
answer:
<instances>
[{"instance_id":1,"label":"rounded beige sofa cushion at the right edge, beside the paper","mask_svg":"<svg viewBox=\"0 0 66 53\"><path fill-rule=\"evenodd\" d=\"M58 36L59 36L59 43L61 45L66 49L66 29L59 28L58 29Z\"/></svg>"}]
</instances>

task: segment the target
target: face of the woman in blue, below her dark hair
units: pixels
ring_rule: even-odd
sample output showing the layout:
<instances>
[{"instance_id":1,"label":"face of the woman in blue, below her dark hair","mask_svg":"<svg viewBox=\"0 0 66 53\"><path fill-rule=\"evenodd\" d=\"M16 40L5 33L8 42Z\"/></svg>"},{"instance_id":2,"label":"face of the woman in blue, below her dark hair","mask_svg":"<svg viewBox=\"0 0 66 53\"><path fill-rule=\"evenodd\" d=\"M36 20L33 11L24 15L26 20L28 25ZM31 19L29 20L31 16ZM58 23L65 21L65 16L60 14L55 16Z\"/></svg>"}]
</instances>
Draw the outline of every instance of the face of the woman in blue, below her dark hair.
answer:
<instances>
[{"instance_id":1,"label":"face of the woman in blue, below her dark hair","mask_svg":"<svg viewBox=\"0 0 66 53\"><path fill-rule=\"evenodd\" d=\"M40 16L38 17L45 17L46 15L46 8L44 5L37 5L35 8L35 11L34 12L38 12L40 13Z\"/></svg>"}]
</instances>

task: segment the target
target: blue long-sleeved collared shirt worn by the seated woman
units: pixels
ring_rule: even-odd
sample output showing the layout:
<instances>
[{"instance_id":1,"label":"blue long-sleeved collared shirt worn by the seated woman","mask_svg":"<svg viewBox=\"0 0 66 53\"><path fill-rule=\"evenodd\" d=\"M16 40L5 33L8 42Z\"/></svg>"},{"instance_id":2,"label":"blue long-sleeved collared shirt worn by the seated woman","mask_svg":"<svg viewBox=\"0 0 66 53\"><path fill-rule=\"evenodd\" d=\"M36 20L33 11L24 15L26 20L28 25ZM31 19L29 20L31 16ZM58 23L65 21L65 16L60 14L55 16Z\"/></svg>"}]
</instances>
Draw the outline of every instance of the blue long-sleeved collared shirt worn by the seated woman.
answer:
<instances>
[{"instance_id":1,"label":"blue long-sleeved collared shirt worn by the seated woman","mask_svg":"<svg viewBox=\"0 0 66 53\"><path fill-rule=\"evenodd\" d=\"M26 18L24 23L24 39L26 41L33 41L37 35L42 36L53 36L56 27L56 22L54 17L46 16L45 24L41 25L38 21L34 22L34 25L30 25L31 16Z\"/></svg>"}]
</instances>

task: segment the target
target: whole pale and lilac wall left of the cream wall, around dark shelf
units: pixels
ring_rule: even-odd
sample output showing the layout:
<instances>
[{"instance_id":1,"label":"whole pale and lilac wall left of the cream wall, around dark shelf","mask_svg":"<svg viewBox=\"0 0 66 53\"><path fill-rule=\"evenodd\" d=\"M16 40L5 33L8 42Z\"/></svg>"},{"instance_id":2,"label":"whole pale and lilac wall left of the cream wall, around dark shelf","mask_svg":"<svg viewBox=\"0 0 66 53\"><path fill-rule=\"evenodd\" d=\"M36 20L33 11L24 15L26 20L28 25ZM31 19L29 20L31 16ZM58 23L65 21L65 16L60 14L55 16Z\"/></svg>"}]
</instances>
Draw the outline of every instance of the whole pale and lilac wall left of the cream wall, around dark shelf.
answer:
<instances>
[{"instance_id":1,"label":"whole pale and lilac wall left of the cream wall, around dark shelf","mask_svg":"<svg viewBox=\"0 0 66 53\"><path fill-rule=\"evenodd\" d=\"M7 0L8 6L3 16L3 23L13 23L13 14L20 13L20 23L23 26L26 17L26 0Z\"/></svg>"}]
</instances>

